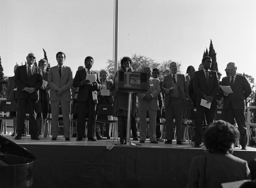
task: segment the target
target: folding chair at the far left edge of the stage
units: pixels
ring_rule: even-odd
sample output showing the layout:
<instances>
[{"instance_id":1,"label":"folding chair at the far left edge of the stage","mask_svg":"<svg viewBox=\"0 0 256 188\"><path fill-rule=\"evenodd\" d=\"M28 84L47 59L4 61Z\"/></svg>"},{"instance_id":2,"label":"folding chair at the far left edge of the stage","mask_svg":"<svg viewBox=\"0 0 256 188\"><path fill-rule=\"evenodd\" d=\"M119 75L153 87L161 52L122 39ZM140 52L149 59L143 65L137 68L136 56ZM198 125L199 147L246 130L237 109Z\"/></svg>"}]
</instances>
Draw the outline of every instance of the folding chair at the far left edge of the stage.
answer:
<instances>
[{"instance_id":1,"label":"folding chair at the far left edge of the stage","mask_svg":"<svg viewBox=\"0 0 256 188\"><path fill-rule=\"evenodd\" d=\"M9 116L9 112L17 111L16 101L0 101L0 111L6 113L6 116L0 116L0 120L2 120L0 134L6 134L8 127L7 121L13 121L17 119L16 116Z\"/></svg>"}]
</instances>

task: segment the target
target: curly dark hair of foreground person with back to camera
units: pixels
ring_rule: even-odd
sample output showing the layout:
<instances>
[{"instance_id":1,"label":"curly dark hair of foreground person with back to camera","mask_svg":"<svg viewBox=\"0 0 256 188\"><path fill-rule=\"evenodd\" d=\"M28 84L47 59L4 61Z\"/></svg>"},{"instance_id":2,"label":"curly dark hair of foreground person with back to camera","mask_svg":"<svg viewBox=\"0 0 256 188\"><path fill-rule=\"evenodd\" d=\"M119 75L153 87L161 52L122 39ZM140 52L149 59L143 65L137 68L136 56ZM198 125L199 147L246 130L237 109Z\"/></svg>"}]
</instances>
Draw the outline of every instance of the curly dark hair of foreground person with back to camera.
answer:
<instances>
[{"instance_id":1,"label":"curly dark hair of foreground person with back to camera","mask_svg":"<svg viewBox=\"0 0 256 188\"><path fill-rule=\"evenodd\" d=\"M210 153L226 153L240 138L239 131L223 120L210 124L204 134L204 144Z\"/></svg>"}]
</instances>

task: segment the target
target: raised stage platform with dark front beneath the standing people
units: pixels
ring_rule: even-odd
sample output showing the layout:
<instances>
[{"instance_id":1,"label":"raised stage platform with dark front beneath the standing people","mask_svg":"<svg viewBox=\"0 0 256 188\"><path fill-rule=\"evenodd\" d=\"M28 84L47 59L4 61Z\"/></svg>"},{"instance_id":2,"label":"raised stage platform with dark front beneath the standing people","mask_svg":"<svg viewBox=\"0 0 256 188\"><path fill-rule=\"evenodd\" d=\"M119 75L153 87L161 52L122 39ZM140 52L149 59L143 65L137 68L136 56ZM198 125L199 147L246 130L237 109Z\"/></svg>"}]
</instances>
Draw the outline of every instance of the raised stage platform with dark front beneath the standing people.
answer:
<instances>
[{"instance_id":1,"label":"raised stage platform with dark front beneath the standing people","mask_svg":"<svg viewBox=\"0 0 256 188\"><path fill-rule=\"evenodd\" d=\"M117 140L90 142L76 138L65 141L59 136L31 140L29 136L8 139L31 151L34 161L33 187L186 187L188 170L195 156L204 155L205 147L173 144L115 146ZM139 141L133 141L139 144ZM234 149L234 156L250 161L256 158L256 148Z\"/></svg>"}]
</instances>

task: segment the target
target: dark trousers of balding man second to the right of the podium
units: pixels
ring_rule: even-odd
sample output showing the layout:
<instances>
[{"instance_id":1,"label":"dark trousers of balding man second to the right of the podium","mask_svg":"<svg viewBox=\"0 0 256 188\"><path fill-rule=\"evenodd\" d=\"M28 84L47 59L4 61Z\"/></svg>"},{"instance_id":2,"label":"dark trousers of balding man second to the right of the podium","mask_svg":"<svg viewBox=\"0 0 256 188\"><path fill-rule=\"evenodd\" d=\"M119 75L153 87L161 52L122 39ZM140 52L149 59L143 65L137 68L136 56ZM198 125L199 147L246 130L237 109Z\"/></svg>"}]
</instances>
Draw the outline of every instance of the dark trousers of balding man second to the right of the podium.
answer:
<instances>
[{"instance_id":1,"label":"dark trousers of balding man second to the right of the podium","mask_svg":"<svg viewBox=\"0 0 256 188\"><path fill-rule=\"evenodd\" d=\"M165 119L166 119L166 139L173 140L173 120L176 124L177 141L182 140L182 115L183 105L182 100L179 98L170 98L169 105L165 107Z\"/></svg>"}]
</instances>

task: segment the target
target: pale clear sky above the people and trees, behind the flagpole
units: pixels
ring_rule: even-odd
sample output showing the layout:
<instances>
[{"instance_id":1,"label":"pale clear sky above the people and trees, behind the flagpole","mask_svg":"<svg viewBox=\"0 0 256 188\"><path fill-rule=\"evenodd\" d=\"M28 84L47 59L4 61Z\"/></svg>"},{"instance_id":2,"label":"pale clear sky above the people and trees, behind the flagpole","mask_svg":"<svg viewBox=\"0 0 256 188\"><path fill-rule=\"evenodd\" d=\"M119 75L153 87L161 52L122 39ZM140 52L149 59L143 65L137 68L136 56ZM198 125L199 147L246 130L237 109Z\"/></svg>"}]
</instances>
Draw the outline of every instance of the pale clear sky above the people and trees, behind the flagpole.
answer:
<instances>
[{"instance_id":1,"label":"pale clear sky above the people and trees, behind the flagpole","mask_svg":"<svg viewBox=\"0 0 256 188\"><path fill-rule=\"evenodd\" d=\"M33 52L51 66L62 51L73 77L84 58L93 69L113 59L114 0L1 0L0 56L6 76ZM255 0L119 0L118 59L140 54L198 68L210 39L219 71L228 62L256 79Z\"/></svg>"}]
</instances>

